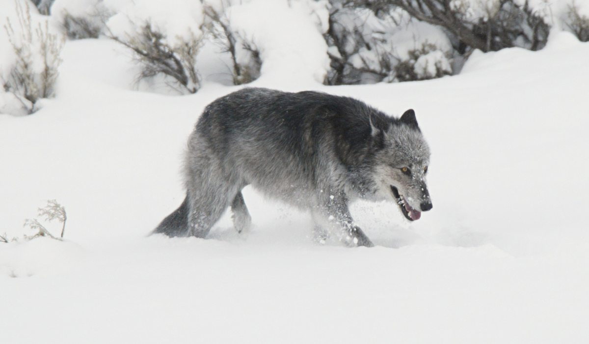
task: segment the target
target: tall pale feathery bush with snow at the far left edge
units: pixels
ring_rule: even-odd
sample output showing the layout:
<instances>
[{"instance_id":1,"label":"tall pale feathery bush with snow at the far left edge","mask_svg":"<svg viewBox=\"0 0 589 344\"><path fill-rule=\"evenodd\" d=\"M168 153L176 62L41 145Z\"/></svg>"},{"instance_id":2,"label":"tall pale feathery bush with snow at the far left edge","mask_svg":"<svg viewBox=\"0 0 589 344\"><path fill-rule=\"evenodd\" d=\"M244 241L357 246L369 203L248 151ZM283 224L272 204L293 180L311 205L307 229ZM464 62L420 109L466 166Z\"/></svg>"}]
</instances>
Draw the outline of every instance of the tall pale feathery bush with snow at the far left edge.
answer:
<instances>
[{"instance_id":1,"label":"tall pale feathery bush with snow at the far left edge","mask_svg":"<svg viewBox=\"0 0 589 344\"><path fill-rule=\"evenodd\" d=\"M63 40L49 32L47 20L35 27L31 19L28 2L15 1L18 25L6 18L5 30L14 51L15 62L8 75L2 75L4 90L12 94L20 104L13 107L13 113L31 114L38 110L35 105L42 98L55 95L58 67L61 64Z\"/></svg>"}]
</instances>

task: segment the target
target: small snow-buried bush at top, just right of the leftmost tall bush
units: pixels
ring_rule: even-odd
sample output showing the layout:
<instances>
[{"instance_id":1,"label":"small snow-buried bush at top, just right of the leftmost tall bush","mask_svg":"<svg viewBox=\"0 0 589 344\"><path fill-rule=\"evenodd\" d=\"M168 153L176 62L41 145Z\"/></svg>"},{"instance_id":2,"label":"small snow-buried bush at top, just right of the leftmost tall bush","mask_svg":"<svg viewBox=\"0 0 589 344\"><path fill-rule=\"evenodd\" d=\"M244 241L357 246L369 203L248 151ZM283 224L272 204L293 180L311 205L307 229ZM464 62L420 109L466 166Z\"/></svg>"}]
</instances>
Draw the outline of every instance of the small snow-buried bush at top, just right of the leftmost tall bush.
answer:
<instances>
[{"instance_id":1,"label":"small snow-buried bush at top, just right of the leftmost tall bush","mask_svg":"<svg viewBox=\"0 0 589 344\"><path fill-rule=\"evenodd\" d=\"M55 0L51 13L70 40L98 38L114 14L103 0Z\"/></svg>"}]
</instances>

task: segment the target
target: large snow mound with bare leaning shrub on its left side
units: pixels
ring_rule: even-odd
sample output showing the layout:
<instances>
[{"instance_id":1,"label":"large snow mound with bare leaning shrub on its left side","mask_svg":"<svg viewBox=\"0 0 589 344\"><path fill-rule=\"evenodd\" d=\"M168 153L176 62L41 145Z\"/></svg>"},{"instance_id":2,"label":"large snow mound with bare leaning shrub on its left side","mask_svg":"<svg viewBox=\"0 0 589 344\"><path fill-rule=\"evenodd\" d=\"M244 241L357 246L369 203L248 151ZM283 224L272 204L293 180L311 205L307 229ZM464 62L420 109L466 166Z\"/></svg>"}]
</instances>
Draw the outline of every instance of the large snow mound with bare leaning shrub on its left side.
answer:
<instances>
[{"instance_id":1,"label":"large snow mound with bare leaning shrub on its left side","mask_svg":"<svg viewBox=\"0 0 589 344\"><path fill-rule=\"evenodd\" d=\"M207 0L211 37L230 54L235 84L273 76L322 82L329 60L322 34L327 0Z\"/></svg>"}]
</instances>

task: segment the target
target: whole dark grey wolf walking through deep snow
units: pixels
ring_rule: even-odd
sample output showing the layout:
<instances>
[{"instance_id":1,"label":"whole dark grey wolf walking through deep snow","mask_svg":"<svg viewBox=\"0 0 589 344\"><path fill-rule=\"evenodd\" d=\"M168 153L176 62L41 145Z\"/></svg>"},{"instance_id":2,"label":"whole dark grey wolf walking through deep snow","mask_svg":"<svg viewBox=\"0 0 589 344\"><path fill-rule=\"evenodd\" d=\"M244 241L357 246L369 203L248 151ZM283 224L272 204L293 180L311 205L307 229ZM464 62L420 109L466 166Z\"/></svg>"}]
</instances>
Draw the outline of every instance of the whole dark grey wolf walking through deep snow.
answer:
<instances>
[{"instance_id":1,"label":"whole dark grey wolf walking through deep snow","mask_svg":"<svg viewBox=\"0 0 589 344\"><path fill-rule=\"evenodd\" d=\"M429 148L415 113L386 116L362 101L314 91L243 89L204 109L188 139L183 204L154 230L204 238L227 207L237 231L251 223L241 189L311 211L318 233L372 246L348 210L389 199L409 220L432 208Z\"/></svg>"}]
</instances>

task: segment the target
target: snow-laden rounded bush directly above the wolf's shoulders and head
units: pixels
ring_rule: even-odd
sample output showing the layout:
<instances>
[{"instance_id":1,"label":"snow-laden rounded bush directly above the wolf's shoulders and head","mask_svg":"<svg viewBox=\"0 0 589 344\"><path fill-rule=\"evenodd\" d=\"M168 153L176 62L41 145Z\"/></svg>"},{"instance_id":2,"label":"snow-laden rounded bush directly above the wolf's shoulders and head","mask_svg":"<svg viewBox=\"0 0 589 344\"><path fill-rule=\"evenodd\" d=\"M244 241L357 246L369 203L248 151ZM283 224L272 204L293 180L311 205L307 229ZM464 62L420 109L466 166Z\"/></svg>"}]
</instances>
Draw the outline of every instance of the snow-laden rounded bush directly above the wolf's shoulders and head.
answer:
<instances>
[{"instance_id":1,"label":"snow-laden rounded bush directly above the wolf's shoulders and head","mask_svg":"<svg viewBox=\"0 0 589 344\"><path fill-rule=\"evenodd\" d=\"M332 68L326 84L425 80L452 74L452 47L439 28L413 22L399 8L375 8L350 0L332 0L331 5L325 40Z\"/></svg>"}]
</instances>

